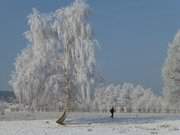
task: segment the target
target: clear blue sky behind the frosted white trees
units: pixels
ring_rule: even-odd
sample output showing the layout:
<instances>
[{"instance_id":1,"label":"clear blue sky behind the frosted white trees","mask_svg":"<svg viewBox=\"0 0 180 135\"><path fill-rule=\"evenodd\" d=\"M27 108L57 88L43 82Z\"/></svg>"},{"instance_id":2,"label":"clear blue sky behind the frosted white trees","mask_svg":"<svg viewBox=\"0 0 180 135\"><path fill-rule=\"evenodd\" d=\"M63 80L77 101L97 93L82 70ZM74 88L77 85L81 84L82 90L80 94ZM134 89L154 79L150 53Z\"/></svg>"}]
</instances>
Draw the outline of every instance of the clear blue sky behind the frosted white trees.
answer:
<instances>
[{"instance_id":1,"label":"clear blue sky behind the frosted white trees","mask_svg":"<svg viewBox=\"0 0 180 135\"><path fill-rule=\"evenodd\" d=\"M0 0L0 90L8 86L23 33L35 7L52 12L73 0ZM180 28L179 0L88 0L90 23L101 45L97 67L108 82L131 82L162 91L168 43Z\"/></svg>"}]
</instances>

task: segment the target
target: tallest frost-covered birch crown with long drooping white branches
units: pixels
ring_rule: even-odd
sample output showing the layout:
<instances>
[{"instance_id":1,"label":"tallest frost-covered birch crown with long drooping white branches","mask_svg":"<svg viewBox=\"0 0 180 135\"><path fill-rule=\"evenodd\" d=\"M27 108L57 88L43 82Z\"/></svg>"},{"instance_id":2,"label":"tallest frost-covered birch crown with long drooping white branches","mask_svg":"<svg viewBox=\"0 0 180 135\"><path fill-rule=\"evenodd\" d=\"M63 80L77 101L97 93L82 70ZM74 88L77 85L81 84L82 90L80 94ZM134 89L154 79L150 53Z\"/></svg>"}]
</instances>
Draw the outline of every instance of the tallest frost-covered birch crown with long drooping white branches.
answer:
<instances>
[{"instance_id":1,"label":"tallest frost-covered birch crown with long drooping white branches","mask_svg":"<svg viewBox=\"0 0 180 135\"><path fill-rule=\"evenodd\" d=\"M88 23L89 7L84 0L76 0L72 6L57 10L55 16L58 18L55 21L58 38L64 45L64 69L70 83L80 93L78 99L82 108L88 107L94 92L97 43Z\"/></svg>"}]
</instances>

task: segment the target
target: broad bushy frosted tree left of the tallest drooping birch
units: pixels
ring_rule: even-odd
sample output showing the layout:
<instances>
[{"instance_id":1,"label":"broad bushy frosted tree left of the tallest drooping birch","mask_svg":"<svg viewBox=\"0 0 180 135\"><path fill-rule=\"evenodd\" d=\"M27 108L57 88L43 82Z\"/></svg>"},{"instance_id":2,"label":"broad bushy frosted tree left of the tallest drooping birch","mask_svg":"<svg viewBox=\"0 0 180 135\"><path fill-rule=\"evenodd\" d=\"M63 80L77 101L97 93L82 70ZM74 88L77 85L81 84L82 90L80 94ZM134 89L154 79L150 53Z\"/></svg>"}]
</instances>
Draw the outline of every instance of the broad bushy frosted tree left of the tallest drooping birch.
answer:
<instances>
[{"instance_id":1,"label":"broad bushy frosted tree left of the tallest drooping birch","mask_svg":"<svg viewBox=\"0 0 180 135\"><path fill-rule=\"evenodd\" d=\"M16 58L10 84L20 104L38 110L47 108L60 98L59 93L63 89L63 46L58 41L57 32L52 29L51 16L33 9L28 16L28 24L30 30L25 36L29 45Z\"/></svg>"}]
</instances>

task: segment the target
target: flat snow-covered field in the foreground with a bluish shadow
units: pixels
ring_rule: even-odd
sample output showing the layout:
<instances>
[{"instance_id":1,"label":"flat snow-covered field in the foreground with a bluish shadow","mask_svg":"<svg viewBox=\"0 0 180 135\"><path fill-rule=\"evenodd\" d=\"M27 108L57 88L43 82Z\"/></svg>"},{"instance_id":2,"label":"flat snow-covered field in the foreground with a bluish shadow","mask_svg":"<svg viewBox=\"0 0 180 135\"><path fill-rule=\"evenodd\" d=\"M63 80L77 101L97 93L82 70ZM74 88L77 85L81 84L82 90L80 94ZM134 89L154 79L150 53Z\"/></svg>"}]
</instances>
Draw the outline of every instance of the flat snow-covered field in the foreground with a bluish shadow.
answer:
<instances>
[{"instance_id":1,"label":"flat snow-covered field in the foreground with a bluish shadow","mask_svg":"<svg viewBox=\"0 0 180 135\"><path fill-rule=\"evenodd\" d=\"M180 135L177 114L73 113L66 125L58 113L7 113L0 116L0 135Z\"/></svg>"}]
</instances>

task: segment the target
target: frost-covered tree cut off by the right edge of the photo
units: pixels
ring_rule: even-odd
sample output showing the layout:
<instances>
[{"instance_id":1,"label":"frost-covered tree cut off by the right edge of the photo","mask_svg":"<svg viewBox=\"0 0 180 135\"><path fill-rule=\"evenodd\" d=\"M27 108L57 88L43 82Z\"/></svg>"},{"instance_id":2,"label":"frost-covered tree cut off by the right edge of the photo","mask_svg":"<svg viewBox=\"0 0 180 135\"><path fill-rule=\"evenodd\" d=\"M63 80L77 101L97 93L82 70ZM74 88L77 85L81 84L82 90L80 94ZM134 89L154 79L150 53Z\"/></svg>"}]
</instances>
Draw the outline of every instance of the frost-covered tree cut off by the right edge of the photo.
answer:
<instances>
[{"instance_id":1,"label":"frost-covered tree cut off by the right edge of the photo","mask_svg":"<svg viewBox=\"0 0 180 135\"><path fill-rule=\"evenodd\" d=\"M162 69L164 97L170 109L180 109L180 31L169 45Z\"/></svg>"}]
</instances>

